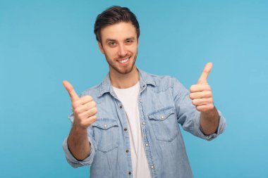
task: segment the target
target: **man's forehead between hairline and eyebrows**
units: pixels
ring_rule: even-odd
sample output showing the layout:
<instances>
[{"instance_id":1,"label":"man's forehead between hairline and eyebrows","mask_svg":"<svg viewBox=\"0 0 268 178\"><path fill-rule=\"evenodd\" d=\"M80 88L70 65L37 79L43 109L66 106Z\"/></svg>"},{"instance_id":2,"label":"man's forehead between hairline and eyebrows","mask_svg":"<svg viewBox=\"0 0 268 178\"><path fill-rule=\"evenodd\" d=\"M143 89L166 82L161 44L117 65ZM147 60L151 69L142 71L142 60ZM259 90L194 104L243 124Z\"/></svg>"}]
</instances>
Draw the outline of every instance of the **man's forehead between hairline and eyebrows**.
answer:
<instances>
[{"instance_id":1,"label":"man's forehead between hairline and eyebrows","mask_svg":"<svg viewBox=\"0 0 268 178\"><path fill-rule=\"evenodd\" d=\"M118 41L127 39L129 37L137 37L136 29L131 23L116 23L109 25L101 30L102 40L115 39Z\"/></svg>"}]
</instances>

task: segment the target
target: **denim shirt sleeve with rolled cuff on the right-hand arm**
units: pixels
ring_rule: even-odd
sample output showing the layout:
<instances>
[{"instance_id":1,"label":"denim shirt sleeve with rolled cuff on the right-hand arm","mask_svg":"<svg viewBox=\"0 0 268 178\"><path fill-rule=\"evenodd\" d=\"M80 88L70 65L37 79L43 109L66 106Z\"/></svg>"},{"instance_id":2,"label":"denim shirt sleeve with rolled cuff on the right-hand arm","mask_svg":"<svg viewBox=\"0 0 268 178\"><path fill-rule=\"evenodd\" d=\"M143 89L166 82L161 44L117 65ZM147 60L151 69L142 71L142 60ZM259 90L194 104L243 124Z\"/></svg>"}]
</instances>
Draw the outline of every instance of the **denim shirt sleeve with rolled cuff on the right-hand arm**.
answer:
<instances>
[{"instance_id":1,"label":"denim shirt sleeve with rolled cuff on the right-hand arm","mask_svg":"<svg viewBox=\"0 0 268 178\"><path fill-rule=\"evenodd\" d=\"M176 115L178 123L181 124L183 129L191 134L198 136L202 139L212 140L215 139L219 134L224 132L226 127L226 120L222 113L219 113L219 126L217 132L205 135L200 127L200 111L196 110L189 96L189 91L185 89L183 84L178 82L175 78L173 80L173 99L176 108Z\"/></svg>"}]
</instances>

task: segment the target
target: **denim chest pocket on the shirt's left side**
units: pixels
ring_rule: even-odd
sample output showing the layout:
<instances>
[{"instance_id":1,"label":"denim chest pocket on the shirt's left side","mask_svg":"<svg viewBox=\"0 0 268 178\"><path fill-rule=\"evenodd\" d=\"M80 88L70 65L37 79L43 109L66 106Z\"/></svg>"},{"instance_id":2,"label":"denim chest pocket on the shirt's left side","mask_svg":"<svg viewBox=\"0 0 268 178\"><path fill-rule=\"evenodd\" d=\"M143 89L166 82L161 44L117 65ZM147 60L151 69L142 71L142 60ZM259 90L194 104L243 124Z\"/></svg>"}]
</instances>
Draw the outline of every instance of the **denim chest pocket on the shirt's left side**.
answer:
<instances>
[{"instance_id":1,"label":"denim chest pocket on the shirt's left side","mask_svg":"<svg viewBox=\"0 0 268 178\"><path fill-rule=\"evenodd\" d=\"M118 122L108 118L97 119L92 124L97 150L107 152L118 147Z\"/></svg>"}]
</instances>

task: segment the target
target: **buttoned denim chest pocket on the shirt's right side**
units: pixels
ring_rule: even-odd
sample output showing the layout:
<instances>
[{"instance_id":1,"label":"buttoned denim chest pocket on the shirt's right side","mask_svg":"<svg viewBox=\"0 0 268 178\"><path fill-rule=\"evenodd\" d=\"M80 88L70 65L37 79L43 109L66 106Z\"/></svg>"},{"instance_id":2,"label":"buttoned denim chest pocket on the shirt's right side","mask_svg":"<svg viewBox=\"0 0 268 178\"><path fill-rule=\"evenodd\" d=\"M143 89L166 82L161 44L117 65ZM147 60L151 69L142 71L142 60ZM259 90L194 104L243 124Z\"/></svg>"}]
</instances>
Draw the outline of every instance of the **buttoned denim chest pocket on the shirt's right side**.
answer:
<instances>
[{"instance_id":1,"label":"buttoned denim chest pocket on the shirt's right side","mask_svg":"<svg viewBox=\"0 0 268 178\"><path fill-rule=\"evenodd\" d=\"M173 141L178 135L178 122L174 108L163 108L148 115L154 134L159 141Z\"/></svg>"}]
</instances>

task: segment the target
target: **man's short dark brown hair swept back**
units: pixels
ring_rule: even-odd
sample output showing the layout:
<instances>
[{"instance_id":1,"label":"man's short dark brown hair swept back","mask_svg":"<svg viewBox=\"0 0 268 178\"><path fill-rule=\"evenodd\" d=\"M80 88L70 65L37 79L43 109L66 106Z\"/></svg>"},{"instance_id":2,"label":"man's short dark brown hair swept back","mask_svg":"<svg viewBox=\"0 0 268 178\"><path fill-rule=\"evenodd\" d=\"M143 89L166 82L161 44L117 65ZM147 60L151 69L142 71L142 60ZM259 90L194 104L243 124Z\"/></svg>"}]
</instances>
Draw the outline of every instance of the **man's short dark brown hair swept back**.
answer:
<instances>
[{"instance_id":1,"label":"man's short dark brown hair swept back","mask_svg":"<svg viewBox=\"0 0 268 178\"><path fill-rule=\"evenodd\" d=\"M111 6L97 16L94 26L94 33L98 42L102 43L101 30L108 25L116 23L132 23L136 29L137 37L140 37L140 25L133 12L129 8L121 6Z\"/></svg>"}]
</instances>

